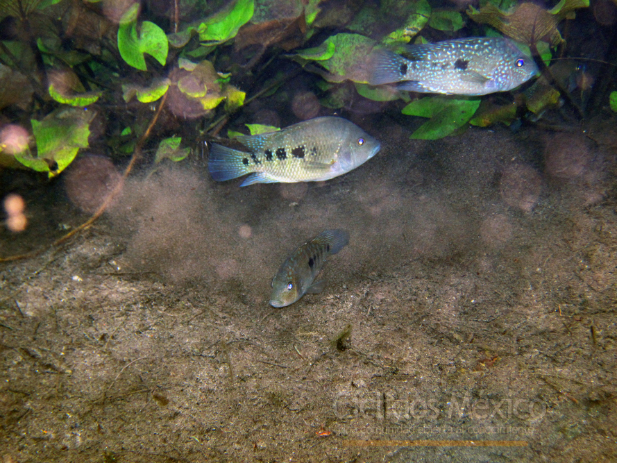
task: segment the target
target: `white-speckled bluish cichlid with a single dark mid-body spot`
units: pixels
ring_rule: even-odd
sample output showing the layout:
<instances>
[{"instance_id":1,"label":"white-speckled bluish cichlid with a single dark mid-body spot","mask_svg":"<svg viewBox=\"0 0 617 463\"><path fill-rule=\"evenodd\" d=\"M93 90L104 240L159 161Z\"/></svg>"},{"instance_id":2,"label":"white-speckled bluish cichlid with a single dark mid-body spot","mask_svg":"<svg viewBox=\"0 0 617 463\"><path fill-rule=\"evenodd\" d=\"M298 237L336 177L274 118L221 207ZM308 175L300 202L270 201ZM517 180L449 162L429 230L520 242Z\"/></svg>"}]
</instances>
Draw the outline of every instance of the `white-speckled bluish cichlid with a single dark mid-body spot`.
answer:
<instances>
[{"instance_id":1,"label":"white-speckled bluish cichlid with a single dark mid-body spot","mask_svg":"<svg viewBox=\"0 0 617 463\"><path fill-rule=\"evenodd\" d=\"M400 90L485 95L505 92L538 74L534 60L502 37L470 37L408 45L409 59L379 50L371 56L371 85L400 82Z\"/></svg>"}]
</instances>

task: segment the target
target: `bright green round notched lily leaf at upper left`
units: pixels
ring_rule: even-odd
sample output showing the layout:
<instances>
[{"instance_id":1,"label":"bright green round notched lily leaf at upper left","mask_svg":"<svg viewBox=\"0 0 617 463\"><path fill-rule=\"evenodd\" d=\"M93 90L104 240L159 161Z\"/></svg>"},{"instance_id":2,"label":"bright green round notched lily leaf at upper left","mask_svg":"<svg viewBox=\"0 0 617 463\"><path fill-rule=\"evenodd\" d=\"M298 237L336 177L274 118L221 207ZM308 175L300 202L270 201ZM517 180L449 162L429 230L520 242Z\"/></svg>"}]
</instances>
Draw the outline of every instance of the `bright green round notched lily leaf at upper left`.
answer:
<instances>
[{"instance_id":1,"label":"bright green round notched lily leaf at upper left","mask_svg":"<svg viewBox=\"0 0 617 463\"><path fill-rule=\"evenodd\" d=\"M137 3L135 5L138 6ZM133 7L130 8L130 10L133 9ZM129 13L127 12L124 17L128 16ZM118 29L118 50L120 51L120 56L128 65L141 71L147 71L144 53L153 56L155 60L164 66L167 60L169 44L167 43L167 35L165 35L162 28L153 22L142 22L139 35L137 35L136 21L121 22Z\"/></svg>"}]
</instances>

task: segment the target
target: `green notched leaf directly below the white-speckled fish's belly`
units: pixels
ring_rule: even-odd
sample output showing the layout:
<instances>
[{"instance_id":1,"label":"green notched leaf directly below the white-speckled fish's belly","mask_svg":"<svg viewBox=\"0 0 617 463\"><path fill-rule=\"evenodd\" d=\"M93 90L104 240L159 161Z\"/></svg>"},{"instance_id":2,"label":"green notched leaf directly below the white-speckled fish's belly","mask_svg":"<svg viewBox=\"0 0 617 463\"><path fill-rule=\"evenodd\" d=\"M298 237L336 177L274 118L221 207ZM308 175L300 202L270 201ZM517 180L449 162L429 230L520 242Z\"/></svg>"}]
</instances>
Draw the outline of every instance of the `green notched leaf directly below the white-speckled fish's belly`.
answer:
<instances>
[{"instance_id":1,"label":"green notched leaf directly below the white-speckled fish's belly","mask_svg":"<svg viewBox=\"0 0 617 463\"><path fill-rule=\"evenodd\" d=\"M403 108L402 112L405 115L430 117L430 120L420 126L411 138L438 140L464 126L480 106L480 101L480 98L453 99L444 96L428 96L412 101Z\"/></svg>"}]
</instances>

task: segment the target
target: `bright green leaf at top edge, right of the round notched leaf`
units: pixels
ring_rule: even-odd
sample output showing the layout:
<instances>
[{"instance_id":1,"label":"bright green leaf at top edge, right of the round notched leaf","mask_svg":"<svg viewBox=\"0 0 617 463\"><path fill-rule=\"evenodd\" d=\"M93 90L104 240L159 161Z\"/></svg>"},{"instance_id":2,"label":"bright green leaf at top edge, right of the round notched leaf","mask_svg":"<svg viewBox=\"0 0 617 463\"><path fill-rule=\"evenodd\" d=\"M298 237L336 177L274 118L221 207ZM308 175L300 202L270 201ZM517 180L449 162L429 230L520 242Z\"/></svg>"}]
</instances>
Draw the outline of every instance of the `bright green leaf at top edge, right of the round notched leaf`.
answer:
<instances>
[{"instance_id":1,"label":"bright green leaf at top edge, right of the round notched leaf","mask_svg":"<svg viewBox=\"0 0 617 463\"><path fill-rule=\"evenodd\" d=\"M237 0L198 26L199 40L225 42L235 37L239 28L251 20L253 11L253 0Z\"/></svg>"}]
</instances>

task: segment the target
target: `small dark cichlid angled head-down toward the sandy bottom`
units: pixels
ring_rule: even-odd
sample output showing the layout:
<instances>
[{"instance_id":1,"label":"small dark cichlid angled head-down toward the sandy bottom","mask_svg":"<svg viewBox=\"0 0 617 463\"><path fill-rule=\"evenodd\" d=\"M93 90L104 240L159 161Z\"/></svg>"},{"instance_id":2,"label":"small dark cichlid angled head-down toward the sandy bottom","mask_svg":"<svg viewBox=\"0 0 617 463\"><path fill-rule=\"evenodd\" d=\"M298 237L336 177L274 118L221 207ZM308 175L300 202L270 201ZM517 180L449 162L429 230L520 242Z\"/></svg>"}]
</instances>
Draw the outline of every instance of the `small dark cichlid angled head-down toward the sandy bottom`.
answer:
<instances>
[{"instance_id":1,"label":"small dark cichlid angled head-down toward the sandy bottom","mask_svg":"<svg viewBox=\"0 0 617 463\"><path fill-rule=\"evenodd\" d=\"M272 280L270 304L285 307L306 293L320 292L323 281L313 283L328 255L336 254L349 243L344 230L325 230L300 246L282 263Z\"/></svg>"}]
</instances>

